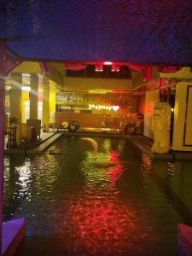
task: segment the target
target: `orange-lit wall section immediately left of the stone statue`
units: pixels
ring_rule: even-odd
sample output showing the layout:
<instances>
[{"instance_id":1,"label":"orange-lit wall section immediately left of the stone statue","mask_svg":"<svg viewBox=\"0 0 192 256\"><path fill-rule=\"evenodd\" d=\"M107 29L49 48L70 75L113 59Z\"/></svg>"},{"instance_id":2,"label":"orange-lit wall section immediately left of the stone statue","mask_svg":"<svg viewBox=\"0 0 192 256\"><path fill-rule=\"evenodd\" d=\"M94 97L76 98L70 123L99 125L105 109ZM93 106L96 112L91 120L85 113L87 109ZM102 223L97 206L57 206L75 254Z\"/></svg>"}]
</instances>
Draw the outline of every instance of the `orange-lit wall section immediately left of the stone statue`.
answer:
<instances>
[{"instance_id":1,"label":"orange-lit wall section immediately left of the stone statue","mask_svg":"<svg viewBox=\"0 0 192 256\"><path fill-rule=\"evenodd\" d=\"M143 134L146 137L154 138L153 131L151 129L154 103L160 99L159 90L148 90L145 96L145 112L144 112L144 131Z\"/></svg>"}]
</instances>

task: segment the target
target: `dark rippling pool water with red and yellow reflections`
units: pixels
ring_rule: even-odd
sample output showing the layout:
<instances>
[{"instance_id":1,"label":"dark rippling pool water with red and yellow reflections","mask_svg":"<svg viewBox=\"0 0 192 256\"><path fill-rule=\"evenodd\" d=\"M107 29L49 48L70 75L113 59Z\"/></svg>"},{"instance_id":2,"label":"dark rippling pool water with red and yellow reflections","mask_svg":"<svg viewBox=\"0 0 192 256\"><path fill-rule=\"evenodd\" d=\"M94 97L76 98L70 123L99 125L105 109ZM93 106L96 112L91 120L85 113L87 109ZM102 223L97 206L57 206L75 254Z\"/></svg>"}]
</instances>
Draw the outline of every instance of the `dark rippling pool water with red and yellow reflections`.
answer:
<instances>
[{"instance_id":1,"label":"dark rippling pool water with red and yellow reflections","mask_svg":"<svg viewBox=\"0 0 192 256\"><path fill-rule=\"evenodd\" d=\"M18 255L177 256L192 224L192 164L119 138L61 137L61 154L5 158L4 220L26 218Z\"/></svg>"}]
</instances>

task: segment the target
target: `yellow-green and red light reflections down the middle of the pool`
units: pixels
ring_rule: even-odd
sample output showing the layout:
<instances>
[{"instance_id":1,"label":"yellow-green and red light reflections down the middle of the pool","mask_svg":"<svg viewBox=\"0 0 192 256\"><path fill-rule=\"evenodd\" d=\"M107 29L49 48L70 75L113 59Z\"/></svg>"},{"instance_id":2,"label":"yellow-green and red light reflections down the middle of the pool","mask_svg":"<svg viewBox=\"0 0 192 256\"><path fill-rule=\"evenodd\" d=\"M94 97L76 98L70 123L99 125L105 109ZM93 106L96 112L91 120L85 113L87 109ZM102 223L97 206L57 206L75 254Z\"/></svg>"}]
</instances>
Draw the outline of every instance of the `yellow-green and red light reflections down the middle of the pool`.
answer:
<instances>
[{"instance_id":1,"label":"yellow-green and red light reflections down the middle of the pool","mask_svg":"<svg viewBox=\"0 0 192 256\"><path fill-rule=\"evenodd\" d=\"M91 138L82 139L96 144ZM119 191L115 187L123 170L118 160L119 152L110 151L109 139L104 140L102 148L104 152L86 152L81 165L84 194L65 200L65 217L55 218L55 232L67 232L74 240L73 252L86 254L89 251L87 255L99 255L101 250L110 250L109 254L115 255L129 247L140 220L131 207L119 200ZM144 232L142 235L146 236ZM114 247L115 242L120 245Z\"/></svg>"}]
</instances>

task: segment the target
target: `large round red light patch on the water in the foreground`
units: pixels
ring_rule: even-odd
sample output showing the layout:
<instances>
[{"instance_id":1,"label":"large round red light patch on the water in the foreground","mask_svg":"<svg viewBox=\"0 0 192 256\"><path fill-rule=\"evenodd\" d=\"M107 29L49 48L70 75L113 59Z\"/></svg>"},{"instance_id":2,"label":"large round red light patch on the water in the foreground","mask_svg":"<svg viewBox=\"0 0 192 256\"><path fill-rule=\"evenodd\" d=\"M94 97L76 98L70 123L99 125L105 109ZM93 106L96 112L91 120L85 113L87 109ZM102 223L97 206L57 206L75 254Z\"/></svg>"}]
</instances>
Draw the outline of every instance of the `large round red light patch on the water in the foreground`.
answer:
<instances>
[{"instance_id":1,"label":"large round red light patch on the water in the foreground","mask_svg":"<svg viewBox=\"0 0 192 256\"><path fill-rule=\"evenodd\" d=\"M66 236L73 241L70 252L114 255L134 247L132 237L140 219L137 212L125 206L116 195L113 200L110 197L89 200L82 195L73 202L68 201L68 205L65 221L55 221L55 232L60 234L61 230L67 230ZM146 234L142 231L139 236L143 241Z\"/></svg>"}]
</instances>

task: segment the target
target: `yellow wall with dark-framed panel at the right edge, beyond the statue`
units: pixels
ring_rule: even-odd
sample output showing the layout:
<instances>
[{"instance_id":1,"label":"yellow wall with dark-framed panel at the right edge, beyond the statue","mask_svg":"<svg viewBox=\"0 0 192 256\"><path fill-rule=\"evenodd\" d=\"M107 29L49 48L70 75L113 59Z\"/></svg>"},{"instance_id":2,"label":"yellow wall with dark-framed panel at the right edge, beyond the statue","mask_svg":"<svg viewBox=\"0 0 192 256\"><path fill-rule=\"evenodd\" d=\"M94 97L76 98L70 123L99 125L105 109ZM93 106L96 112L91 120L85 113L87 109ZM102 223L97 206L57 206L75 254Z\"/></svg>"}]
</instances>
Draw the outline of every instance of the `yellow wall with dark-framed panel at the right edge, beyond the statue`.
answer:
<instances>
[{"instance_id":1,"label":"yellow wall with dark-framed panel at the right edge, beyond the statue","mask_svg":"<svg viewBox=\"0 0 192 256\"><path fill-rule=\"evenodd\" d=\"M180 82L176 87L172 141L172 149L174 150L192 151L192 87L189 88L187 100L187 90L189 86L192 86L191 82ZM185 119L186 109L188 114ZM185 122L186 131L184 131ZM191 146L184 146L183 143Z\"/></svg>"}]
</instances>

